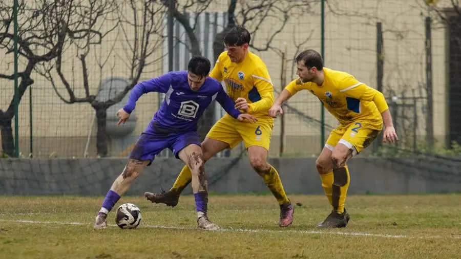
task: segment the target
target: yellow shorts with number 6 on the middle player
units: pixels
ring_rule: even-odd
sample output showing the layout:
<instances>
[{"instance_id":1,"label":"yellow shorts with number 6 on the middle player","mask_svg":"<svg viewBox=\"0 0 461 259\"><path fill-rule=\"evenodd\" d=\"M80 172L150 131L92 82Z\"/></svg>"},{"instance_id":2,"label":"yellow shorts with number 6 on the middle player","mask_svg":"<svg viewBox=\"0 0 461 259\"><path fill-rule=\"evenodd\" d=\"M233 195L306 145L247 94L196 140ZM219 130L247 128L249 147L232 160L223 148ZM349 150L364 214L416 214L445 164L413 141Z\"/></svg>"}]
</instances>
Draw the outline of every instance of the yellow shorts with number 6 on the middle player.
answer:
<instances>
[{"instance_id":1,"label":"yellow shorts with number 6 on the middle player","mask_svg":"<svg viewBox=\"0 0 461 259\"><path fill-rule=\"evenodd\" d=\"M249 146L262 146L269 150L274 120L270 117L258 118L257 122L239 122L230 115L224 115L208 132L206 137L229 144L231 148L240 142Z\"/></svg>"}]
</instances>

